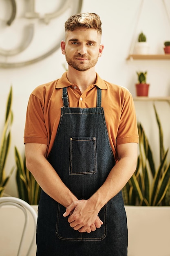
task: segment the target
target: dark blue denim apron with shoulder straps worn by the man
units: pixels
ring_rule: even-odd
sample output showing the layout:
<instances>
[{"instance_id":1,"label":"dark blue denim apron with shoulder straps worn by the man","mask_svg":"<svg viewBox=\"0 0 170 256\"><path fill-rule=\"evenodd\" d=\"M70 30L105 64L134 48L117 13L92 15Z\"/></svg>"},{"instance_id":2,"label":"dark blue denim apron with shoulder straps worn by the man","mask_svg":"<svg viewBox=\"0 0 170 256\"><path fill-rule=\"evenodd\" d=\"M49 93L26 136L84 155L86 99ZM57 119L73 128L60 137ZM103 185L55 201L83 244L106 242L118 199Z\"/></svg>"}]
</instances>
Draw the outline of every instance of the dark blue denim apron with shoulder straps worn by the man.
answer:
<instances>
[{"instance_id":1,"label":"dark blue denim apron with shoulder straps worn by the man","mask_svg":"<svg viewBox=\"0 0 170 256\"><path fill-rule=\"evenodd\" d=\"M96 108L69 108L63 88L61 118L48 161L79 199L90 198L115 165L110 147L101 89ZM56 184L57 186L57 184ZM99 212L104 224L80 233L63 217L65 207L44 191L38 207L37 256L127 256L127 221L121 191Z\"/></svg>"}]
</instances>

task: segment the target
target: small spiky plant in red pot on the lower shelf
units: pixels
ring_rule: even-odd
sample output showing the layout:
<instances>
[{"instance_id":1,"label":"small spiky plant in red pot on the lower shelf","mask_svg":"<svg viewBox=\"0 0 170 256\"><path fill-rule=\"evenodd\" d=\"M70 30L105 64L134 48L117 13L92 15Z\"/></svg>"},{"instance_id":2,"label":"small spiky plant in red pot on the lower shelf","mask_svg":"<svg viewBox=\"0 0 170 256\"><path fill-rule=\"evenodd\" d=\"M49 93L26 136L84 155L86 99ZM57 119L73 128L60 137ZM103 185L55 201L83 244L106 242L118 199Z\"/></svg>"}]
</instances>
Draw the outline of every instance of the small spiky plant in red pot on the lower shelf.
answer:
<instances>
[{"instance_id":1,"label":"small spiky plant in red pot on the lower shelf","mask_svg":"<svg viewBox=\"0 0 170 256\"><path fill-rule=\"evenodd\" d=\"M137 96L148 96L149 84L146 83L147 72L137 72L138 83L136 83Z\"/></svg>"}]
</instances>

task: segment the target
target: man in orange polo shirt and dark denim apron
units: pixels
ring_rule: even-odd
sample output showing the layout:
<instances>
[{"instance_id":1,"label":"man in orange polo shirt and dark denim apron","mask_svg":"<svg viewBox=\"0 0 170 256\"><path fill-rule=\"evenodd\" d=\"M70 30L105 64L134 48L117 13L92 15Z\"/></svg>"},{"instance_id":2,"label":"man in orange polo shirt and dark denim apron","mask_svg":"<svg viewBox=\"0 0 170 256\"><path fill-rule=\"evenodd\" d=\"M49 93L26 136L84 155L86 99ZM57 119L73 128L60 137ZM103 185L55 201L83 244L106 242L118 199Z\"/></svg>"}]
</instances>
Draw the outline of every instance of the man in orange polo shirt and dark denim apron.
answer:
<instances>
[{"instance_id":1,"label":"man in orange polo shirt and dark denim apron","mask_svg":"<svg viewBox=\"0 0 170 256\"><path fill-rule=\"evenodd\" d=\"M68 72L29 99L26 165L42 188L38 256L127 255L121 189L136 169L138 132L130 92L95 72L101 24L95 13L68 18Z\"/></svg>"}]
</instances>

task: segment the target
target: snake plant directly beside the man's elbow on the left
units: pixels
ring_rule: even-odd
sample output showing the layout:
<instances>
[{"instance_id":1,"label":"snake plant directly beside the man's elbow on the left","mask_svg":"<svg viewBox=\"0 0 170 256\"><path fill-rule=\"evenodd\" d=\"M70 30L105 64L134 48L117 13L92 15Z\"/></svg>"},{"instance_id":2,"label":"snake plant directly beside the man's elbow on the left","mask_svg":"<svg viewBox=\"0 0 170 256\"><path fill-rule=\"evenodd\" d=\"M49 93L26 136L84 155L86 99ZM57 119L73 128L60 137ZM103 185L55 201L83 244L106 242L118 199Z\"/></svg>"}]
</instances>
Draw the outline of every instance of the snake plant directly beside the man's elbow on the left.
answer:
<instances>
[{"instance_id":1,"label":"snake plant directly beside the man's elbow on the left","mask_svg":"<svg viewBox=\"0 0 170 256\"><path fill-rule=\"evenodd\" d=\"M26 159L22 159L18 149L15 147L15 162L17 166L16 181L19 198L29 204L38 204L41 188L31 172L26 168Z\"/></svg>"}]
</instances>

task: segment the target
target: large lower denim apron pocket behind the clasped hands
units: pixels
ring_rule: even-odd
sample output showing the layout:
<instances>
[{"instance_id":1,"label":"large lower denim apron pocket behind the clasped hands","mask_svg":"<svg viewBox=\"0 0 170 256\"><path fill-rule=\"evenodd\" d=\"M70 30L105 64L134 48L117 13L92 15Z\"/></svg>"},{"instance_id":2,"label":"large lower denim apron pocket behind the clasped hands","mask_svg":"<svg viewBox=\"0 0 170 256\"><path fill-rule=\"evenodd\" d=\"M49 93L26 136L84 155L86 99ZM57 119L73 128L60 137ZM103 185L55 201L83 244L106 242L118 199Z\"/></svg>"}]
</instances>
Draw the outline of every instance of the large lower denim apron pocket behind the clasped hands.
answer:
<instances>
[{"instance_id":1,"label":"large lower denim apron pocket behind the clasped hands","mask_svg":"<svg viewBox=\"0 0 170 256\"><path fill-rule=\"evenodd\" d=\"M104 224L91 233L80 233L70 227L66 217L63 217L63 213L66 208L61 204L58 204L57 211L57 224L56 224L56 235L59 239L70 240L70 241L101 241L106 237L106 210L107 204L99 211L99 218Z\"/></svg>"}]
</instances>

